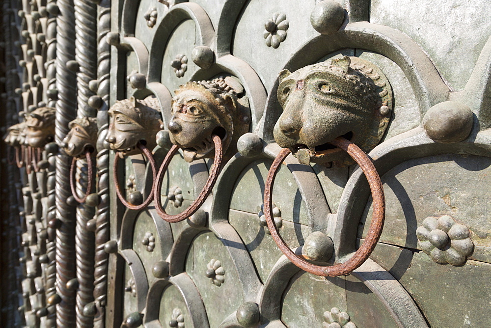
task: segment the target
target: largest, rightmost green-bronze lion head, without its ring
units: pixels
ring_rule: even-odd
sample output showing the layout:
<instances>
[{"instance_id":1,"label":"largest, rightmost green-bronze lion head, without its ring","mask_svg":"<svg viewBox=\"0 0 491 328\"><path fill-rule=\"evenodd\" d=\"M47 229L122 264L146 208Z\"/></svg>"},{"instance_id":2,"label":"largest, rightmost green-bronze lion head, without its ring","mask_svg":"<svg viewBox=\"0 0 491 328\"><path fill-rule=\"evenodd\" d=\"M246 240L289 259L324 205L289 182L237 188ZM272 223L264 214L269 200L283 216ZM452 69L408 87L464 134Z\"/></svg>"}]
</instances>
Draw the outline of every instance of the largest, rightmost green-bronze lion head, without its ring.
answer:
<instances>
[{"instance_id":1,"label":"largest, rightmost green-bronze lion head, without its ring","mask_svg":"<svg viewBox=\"0 0 491 328\"><path fill-rule=\"evenodd\" d=\"M329 142L344 137L364 152L382 139L390 120L392 89L380 68L358 57L333 59L279 76L283 113L274 139L302 164L354 162Z\"/></svg>"}]
</instances>

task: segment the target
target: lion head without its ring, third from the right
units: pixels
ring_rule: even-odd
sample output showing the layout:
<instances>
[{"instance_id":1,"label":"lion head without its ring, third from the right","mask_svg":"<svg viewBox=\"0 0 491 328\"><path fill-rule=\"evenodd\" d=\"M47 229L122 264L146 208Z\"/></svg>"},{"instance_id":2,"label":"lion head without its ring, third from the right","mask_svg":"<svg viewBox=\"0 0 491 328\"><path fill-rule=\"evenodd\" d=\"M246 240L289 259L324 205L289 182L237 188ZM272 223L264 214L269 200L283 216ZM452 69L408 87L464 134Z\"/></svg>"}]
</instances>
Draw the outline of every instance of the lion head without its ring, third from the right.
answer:
<instances>
[{"instance_id":1,"label":"lion head without its ring, third from the right","mask_svg":"<svg viewBox=\"0 0 491 328\"><path fill-rule=\"evenodd\" d=\"M162 125L159 108L159 102L153 96L117 101L109 109L111 123L106 137L109 147L121 158L140 153L137 149L139 142L149 149L155 148L155 135Z\"/></svg>"}]
</instances>

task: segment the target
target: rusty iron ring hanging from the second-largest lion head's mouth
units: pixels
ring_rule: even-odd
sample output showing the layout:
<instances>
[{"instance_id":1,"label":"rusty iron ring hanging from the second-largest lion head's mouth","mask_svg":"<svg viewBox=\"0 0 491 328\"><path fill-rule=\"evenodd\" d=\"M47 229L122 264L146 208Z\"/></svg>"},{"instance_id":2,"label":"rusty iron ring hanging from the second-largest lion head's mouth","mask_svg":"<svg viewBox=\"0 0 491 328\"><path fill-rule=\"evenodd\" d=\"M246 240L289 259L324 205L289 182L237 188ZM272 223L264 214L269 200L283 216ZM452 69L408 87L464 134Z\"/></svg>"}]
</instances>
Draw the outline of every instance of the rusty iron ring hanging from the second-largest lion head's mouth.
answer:
<instances>
[{"instance_id":1,"label":"rusty iron ring hanging from the second-largest lion head's mouth","mask_svg":"<svg viewBox=\"0 0 491 328\"><path fill-rule=\"evenodd\" d=\"M201 205L203 205L206 198L212 191L213 187L215 186L215 182L217 182L218 174L220 173L223 157L220 137L213 135L213 142L215 143L215 159L213 161L213 168L210 172L210 175L208 176L208 180L206 180L206 184L203 187L203 190L199 193L198 197L194 199L192 204L186 210L176 215L168 215L167 213L165 213L164 208L161 204L162 196L160 194L160 191L162 190L162 183L164 181L164 174L167 170L167 166L169 166L172 157L177 152L179 147L173 145L165 156L164 162L162 163L159 169L159 173L157 174L157 183L155 184L154 189L155 209L157 210L157 214L159 214L159 216L165 221L175 223L191 217L191 215L193 215L201 207Z\"/></svg>"}]
</instances>

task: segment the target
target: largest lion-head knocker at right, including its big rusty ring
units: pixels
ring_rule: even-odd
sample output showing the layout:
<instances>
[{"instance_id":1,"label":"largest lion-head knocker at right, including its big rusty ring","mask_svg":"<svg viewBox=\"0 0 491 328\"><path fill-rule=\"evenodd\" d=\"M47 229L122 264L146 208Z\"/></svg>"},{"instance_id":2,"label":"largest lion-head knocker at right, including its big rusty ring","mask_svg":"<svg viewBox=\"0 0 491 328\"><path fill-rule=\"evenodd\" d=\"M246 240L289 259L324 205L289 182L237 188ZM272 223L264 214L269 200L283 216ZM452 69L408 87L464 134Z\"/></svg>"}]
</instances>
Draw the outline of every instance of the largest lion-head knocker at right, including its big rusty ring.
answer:
<instances>
[{"instance_id":1,"label":"largest lion-head knocker at right, including its big rusty ring","mask_svg":"<svg viewBox=\"0 0 491 328\"><path fill-rule=\"evenodd\" d=\"M268 228L283 254L300 269L322 276L350 273L370 256L382 233L385 219L382 183L365 152L380 142L387 129L392 89L380 68L348 56L293 73L282 71L279 80L277 96L283 113L274 127L274 139L285 149L274 159L266 181L264 205ZM278 235L271 193L276 172L291 152L300 164L331 162L338 167L353 163L347 153L365 173L373 196L373 219L365 242L348 261L333 266L311 264L296 255Z\"/></svg>"}]
</instances>

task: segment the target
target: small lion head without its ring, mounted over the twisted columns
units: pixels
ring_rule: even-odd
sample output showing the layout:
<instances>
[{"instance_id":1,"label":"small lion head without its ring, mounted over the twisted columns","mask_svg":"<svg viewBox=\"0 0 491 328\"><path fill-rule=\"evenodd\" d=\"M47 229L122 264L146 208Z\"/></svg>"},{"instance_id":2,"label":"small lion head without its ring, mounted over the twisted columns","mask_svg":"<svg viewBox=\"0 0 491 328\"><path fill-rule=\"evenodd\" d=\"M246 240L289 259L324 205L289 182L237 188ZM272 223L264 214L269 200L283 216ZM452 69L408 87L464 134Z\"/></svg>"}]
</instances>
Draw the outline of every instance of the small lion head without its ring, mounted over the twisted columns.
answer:
<instances>
[{"instance_id":1,"label":"small lion head without its ring, mounted over the twisted columns","mask_svg":"<svg viewBox=\"0 0 491 328\"><path fill-rule=\"evenodd\" d=\"M97 119L95 117L77 117L68 124L70 132L62 142L62 148L68 156L84 157L88 150L95 156L97 142Z\"/></svg>"}]
</instances>

